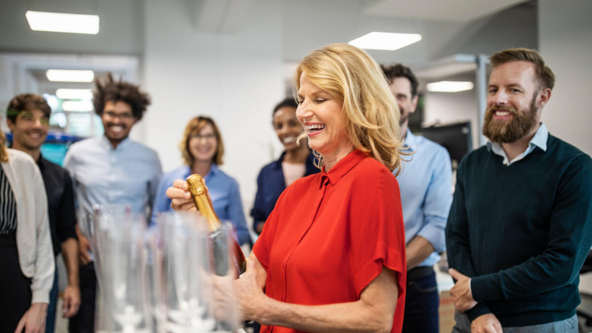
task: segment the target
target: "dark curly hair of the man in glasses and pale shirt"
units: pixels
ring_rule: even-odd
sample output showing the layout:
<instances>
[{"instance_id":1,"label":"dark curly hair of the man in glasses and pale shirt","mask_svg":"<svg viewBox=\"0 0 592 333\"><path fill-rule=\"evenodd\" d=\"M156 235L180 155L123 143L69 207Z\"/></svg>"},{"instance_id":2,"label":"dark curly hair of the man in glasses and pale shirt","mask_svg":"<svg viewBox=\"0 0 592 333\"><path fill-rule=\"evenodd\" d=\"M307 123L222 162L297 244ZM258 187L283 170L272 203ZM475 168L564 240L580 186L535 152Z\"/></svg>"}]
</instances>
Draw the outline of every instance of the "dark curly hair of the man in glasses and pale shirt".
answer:
<instances>
[{"instance_id":1,"label":"dark curly hair of the man in glasses and pale shirt","mask_svg":"<svg viewBox=\"0 0 592 333\"><path fill-rule=\"evenodd\" d=\"M108 101L122 101L131 107L131 112L137 120L142 119L146 108L150 105L150 96L146 92L140 91L137 85L124 82L121 79L114 81L111 73L107 74L104 82L95 81L96 90L92 96L92 104L95 107L95 113L101 116L105 110L105 103Z\"/></svg>"}]
</instances>

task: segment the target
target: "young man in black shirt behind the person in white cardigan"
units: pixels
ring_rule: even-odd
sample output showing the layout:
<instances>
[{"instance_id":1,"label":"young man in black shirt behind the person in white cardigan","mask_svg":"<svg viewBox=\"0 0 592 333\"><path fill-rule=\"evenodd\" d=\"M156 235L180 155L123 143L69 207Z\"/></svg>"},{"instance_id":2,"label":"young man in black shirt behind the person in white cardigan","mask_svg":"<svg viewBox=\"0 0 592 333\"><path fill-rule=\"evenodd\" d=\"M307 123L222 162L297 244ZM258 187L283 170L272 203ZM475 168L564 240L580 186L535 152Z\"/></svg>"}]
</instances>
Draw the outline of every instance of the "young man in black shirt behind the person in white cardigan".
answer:
<instances>
[{"instance_id":1,"label":"young man in black shirt behind the person in white cardigan","mask_svg":"<svg viewBox=\"0 0 592 333\"><path fill-rule=\"evenodd\" d=\"M62 252L66 264L67 281L63 291L62 316L70 318L78 312L78 240L72 180L68 172L41 156L41 145L47 137L52 109L40 95L17 95L8 103L7 125L12 132L12 148L28 153L37 162L47 194L49 230L54 258ZM57 269L49 293L46 332L53 333L56 324Z\"/></svg>"}]
</instances>

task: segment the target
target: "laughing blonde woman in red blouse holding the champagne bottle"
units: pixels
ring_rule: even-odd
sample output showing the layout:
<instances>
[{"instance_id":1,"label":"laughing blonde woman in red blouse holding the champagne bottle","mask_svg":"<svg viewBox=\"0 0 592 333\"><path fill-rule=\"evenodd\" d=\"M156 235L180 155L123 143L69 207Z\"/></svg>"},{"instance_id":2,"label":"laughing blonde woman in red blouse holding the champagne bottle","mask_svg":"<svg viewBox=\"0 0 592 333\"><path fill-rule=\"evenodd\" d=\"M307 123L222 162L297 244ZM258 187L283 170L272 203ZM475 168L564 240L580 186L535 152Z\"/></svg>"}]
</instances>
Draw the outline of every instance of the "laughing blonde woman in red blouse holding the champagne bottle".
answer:
<instances>
[{"instance_id":1,"label":"laughing blonde woman in red blouse holding the champagne bottle","mask_svg":"<svg viewBox=\"0 0 592 333\"><path fill-rule=\"evenodd\" d=\"M322 169L289 185L265 222L236 282L243 316L262 332L400 332L397 103L374 59L348 44L314 51L295 79L297 117ZM175 185L172 206L186 207Z\"/></svg>"}]
</instances>

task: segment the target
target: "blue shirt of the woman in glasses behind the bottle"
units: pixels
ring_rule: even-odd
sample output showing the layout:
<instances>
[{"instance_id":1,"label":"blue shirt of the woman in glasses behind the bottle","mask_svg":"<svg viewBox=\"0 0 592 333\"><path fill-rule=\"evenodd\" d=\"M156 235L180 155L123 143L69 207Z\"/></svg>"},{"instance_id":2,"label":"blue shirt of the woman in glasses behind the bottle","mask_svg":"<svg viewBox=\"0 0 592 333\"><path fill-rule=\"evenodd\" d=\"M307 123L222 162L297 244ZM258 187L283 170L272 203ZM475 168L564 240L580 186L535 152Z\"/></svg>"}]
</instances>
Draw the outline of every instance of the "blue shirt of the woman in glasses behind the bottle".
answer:
<instances>
[{"instance_id":1,"label":"blue shirt of the woman in glasses behind the bottle","mask_svg":"<svg viewBox=\"0 0 592 333\"><path fill-rule=\"evenodd\" d=\"M185 179L189 177L191 169L187 165L177 168L171 172L163 175L156 198L154 201L154 209L152 211L152 223L155 222L156 216L160 212L167 212L172 210L170 207L170 198L166 196L166 189L173 185L176 179ZM205 185L208 187L212 203L214 204L214 211L216 215L224 222L230 221L236 231L237 242L240 245L249 243L249 229L247 229L247 222L244 219L243 203L240 200L239 183L234 178L225 174L218 169L215 164L212 164L210 172L204 177Z\"/></svg>"}]
</instances>

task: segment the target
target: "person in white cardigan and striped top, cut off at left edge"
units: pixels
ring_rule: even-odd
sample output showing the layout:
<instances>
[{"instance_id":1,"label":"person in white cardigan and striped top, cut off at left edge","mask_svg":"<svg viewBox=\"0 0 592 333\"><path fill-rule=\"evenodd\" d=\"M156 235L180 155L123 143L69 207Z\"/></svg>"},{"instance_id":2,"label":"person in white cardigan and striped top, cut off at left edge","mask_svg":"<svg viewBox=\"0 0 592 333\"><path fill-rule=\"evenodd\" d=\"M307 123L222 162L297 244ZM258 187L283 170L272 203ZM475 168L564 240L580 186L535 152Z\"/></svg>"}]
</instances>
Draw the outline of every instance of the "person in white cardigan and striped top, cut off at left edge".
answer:
<instances>
[{"instance_id":1,"label":"person in white cardigan and striped top, cut off at left edge","mask_svg":"<svg viewBox=\"0 0 592 333\"><path fill-rule=\"evenodd\" d=\"M44 332L54 258L47 196L31 155L0 130L0 332Z\"/></svg>"}]
</instances>

